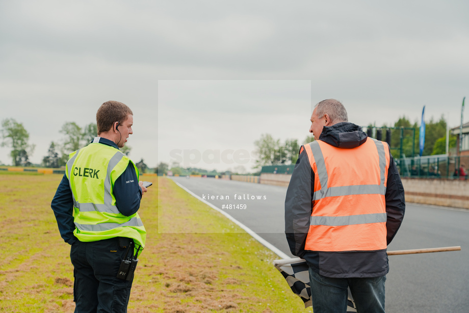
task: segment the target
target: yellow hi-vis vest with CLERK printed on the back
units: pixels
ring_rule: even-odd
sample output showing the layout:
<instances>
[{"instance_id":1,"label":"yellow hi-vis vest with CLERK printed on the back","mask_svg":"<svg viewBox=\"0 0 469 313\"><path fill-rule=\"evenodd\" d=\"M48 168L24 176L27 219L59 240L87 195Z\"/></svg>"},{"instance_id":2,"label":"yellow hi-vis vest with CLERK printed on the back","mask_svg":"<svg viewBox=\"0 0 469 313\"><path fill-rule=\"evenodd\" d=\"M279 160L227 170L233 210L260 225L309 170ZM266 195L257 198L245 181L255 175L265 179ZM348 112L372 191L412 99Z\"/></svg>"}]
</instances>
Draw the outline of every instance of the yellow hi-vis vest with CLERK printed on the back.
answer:
<instances>
[{"instance_id":1,"label":"yellow hi-vis vest with CLERK printed on the back","mask_svg":"<svg viewBox=\"0 0 469 313\"><path fill-rule=\"evenodd\" d=\"M100 144L98 137L88 146L70 153L65 174L74 206L74 236L82 242L115 237L134 239L145 246L146 231L138 213L125 216L116 206L113 187L116 179L132 163L121 151Z\"/></svg>"}]
</instances>

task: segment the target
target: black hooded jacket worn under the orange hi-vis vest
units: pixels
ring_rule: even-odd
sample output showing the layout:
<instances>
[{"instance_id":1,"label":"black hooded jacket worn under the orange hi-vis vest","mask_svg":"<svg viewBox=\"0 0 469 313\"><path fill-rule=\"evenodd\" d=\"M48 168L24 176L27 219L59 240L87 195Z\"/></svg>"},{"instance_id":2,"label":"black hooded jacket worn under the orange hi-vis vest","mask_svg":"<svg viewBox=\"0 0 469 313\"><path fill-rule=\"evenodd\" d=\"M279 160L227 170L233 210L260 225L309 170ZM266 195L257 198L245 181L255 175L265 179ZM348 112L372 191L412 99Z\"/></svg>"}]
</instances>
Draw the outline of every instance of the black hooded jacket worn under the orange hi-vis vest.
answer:
<instances>
[{"instance_id":1,"label":"black hooded jacket worn under the orange hi-vis vest","mask_svg":"<svg viewBox=\"0 0 469 313\"><path fill-rule=\"evenodd\" d=\"M334 147L353 149L367 140L367 134L361 127L352 123L337 123L324 127L319 137ZM300 150L301 151L301 150ZM386 250L366 252L316 252L304 250L306 235L314 194L315 173L312 171L304 151L298 161L290 180L285 199L285 234L290 251L306 260L317 273L336 278L345 277L378 277L389 271ZM386 229L389 244L399 227L405 212L404 188L399 172L389 152L386 193Z\"/></svg>"}]
</instances>

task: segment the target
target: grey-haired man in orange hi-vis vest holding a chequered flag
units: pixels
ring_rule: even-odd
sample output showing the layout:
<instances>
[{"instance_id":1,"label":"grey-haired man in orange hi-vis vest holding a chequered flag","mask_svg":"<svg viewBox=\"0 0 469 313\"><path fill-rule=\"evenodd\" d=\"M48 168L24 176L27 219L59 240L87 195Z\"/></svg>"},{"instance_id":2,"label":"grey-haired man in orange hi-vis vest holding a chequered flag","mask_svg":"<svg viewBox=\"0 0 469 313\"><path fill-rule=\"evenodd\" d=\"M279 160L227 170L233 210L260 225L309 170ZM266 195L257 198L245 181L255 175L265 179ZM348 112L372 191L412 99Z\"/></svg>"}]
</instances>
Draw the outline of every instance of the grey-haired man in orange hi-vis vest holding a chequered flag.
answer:
<instances>
[{"instance_id":1,"label":"grey-haired man in orange hi-vis vest holding a chequered flag","mask_svg":"<svg viewBox=\"0 0 469 313\"><path fill-rule=\"evenodd\" d=\"M285 199L290 250L309 266L315 313L384 312L386 248L404 218L401 178L387 143L348 122L341 102L319 102Z\"/></svg>"}]
</instances>

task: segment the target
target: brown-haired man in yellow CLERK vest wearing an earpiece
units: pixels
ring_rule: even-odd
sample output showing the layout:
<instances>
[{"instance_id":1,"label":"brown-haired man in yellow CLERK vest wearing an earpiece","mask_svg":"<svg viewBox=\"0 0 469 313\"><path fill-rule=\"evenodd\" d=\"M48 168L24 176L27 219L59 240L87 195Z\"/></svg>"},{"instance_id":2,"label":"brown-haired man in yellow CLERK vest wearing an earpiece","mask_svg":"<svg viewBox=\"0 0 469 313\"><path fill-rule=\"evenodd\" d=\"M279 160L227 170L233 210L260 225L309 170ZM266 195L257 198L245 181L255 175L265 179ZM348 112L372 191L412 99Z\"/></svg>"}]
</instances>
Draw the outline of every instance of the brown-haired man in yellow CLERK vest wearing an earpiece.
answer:
<instances>
[{"instance_id":1,"label":"brown-haired man in yellow CLERK vest wearing an earpiece","mask_svg":"<svg viewBox=\"0 0 469 313\"><path fill-rule=\"evenodd\" d=\"M70 153L51 203L60 234L71 245L75 312L127 311L133 273L125 276L126 265L146 236L137 211L147 189L119 150L133 133L133 121L124 103L103 103L96 113L98 137Z\"/></svg>"}]
</instances>

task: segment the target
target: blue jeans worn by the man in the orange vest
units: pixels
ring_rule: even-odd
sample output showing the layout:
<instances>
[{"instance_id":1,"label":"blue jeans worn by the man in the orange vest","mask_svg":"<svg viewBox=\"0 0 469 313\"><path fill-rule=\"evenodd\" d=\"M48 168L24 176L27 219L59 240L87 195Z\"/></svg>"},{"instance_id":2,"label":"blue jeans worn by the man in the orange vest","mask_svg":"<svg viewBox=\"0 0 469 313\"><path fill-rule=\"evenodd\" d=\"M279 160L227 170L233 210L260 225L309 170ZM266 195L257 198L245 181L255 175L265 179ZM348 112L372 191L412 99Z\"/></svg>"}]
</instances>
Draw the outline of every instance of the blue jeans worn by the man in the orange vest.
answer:
<instances>
[{"instance_id":1,"label":"blue jeans worn by the man in the orange vest","mask_svg":"<svg viewBox=\"0 0 469 313\"><path fill-rule=\"evenodd\" d=\"M347 287L350 287L358 313L384 313L386 275L371 278L331 278L309 268L312 310L314 313L347 312Z\"/></svg>"}]
</instances>

